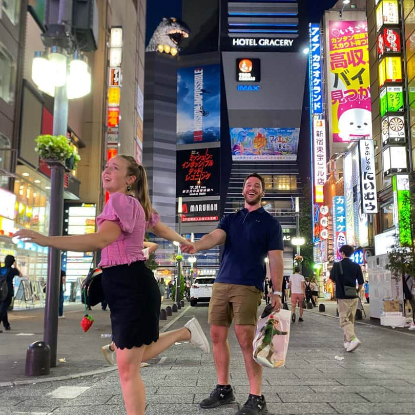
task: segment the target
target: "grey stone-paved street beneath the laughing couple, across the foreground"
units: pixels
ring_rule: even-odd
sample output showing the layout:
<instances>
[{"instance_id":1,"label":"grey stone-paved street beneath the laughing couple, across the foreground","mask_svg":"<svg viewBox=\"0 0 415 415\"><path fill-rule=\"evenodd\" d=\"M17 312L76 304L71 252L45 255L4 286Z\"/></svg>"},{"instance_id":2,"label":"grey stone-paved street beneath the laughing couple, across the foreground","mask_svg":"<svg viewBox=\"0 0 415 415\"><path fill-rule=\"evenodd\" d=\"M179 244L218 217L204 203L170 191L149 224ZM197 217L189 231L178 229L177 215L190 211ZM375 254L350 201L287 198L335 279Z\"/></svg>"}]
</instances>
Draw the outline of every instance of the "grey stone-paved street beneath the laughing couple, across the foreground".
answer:
<instances>
[{"instance_id":1,"label":"grey stone-paved street beneath the laughing couple, across the foreground","mask_svg":"<svg viewBox=\"0 0 415 415\"><path fill-rule=\"evenodd\" d=\"M202 305L186 308L171 328L178 328L193 315L208 333L207 307ZM338 319L307 310L304 323L292 324L286 366L263 371L262 391L269 413L413 415L415 333L368 324L357 324L356 333L362 345L347 353ZM81 355L85 346L82 341L78 343ZM233 330L230 347L231 383L239 404L243 404L248 380ZM147 389L147 415L235 414L238 404L211 410L198 405L216 384L212 354L202 355L198 348L183 342L160 358L141 370ZM122 402L117 372L0 388L2 415L123 415Z\"/></svg>"}]
</instances>

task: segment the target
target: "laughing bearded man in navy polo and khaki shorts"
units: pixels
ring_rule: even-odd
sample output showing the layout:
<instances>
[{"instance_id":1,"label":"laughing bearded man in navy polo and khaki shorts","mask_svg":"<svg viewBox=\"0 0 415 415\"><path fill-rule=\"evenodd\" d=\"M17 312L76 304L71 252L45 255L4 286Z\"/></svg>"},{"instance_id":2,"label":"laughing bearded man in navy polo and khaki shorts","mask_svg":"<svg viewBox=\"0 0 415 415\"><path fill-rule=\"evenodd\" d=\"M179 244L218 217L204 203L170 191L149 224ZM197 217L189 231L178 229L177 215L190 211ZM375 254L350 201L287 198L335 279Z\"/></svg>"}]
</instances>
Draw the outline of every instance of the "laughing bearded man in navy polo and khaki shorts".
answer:
<instances>
[{"instance_id":1,"label":"laughing bearded man in navy polo and khaki shorts","mask_svg":"<svg viewBox=\"0 0 415 415\"><path fill-rule=\"evenodd\" d=\"M248 175L242 191L244 209L223 216L217 229L195 242L194 249L182 247L184 252L193 253L209 250L216 245L225 245L209 304L218 385L209 398L200 402L201 408L214 408L235 401L234 390L229 384L230 348L227 341L233 320L250 381L248 400L236 415L267 413L265 398L261 395L262 367L252 357L252 342L258 306L263 297L265 258L269 258L273 287L282 286L284 267L281 225L261 208L264 189L264 179L258 173ZM275 311L279 312L281 292L274 291L271 300Z\"/></svg>"}]
</instances>

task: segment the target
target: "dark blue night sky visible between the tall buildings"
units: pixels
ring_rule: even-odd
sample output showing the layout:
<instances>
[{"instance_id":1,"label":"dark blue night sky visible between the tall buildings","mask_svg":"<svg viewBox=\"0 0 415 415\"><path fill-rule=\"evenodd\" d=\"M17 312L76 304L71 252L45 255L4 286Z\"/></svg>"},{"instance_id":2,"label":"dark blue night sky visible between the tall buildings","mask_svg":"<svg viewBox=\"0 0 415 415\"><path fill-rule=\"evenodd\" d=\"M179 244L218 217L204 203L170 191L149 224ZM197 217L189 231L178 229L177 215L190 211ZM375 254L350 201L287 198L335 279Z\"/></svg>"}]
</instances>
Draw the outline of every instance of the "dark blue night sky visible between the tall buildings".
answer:
<instances>
[{"instance_id":1,"label":"dark blue night sky visible between the tall buildings","mask_svg":"<svg viewBox=\"0 0 415 415\"><path fill-rule=\"evenodd\" d=\"M327 10L336 4L336 0L306 0L308 21L318 23ZM162 17L181 17L181 0L148 0L146 19L146 46Z\"/></svg>"}]
</instances>

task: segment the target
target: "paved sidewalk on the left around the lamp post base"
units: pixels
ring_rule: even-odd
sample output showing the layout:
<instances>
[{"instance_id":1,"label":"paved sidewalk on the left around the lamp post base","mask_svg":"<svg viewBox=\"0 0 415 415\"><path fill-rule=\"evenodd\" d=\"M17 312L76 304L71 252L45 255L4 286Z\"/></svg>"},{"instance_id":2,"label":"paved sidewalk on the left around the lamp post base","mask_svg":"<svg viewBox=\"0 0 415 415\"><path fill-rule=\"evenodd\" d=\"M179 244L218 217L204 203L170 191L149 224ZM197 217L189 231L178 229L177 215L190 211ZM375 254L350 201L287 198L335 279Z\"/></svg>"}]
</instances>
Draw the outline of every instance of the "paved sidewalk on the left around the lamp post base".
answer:
<instances>
[{"instance_id":1,"label":"paved sidewalk on the left around the lamp post base","mask_svg":"<svg viewBox=\"0 0 415 415\"><path fill-rule=\"evenodd\" d=\"M162 307L172 304L172 300L164 300ZM189 304L185 301L184 308ZM168 320L160 320L160 330L170 325L182 311L183 308L173 313ZM109 338L101 338L102 334L111 334L110 312L108 308L103 311L98 304L89 313L94 323L84 333L80 326L85 314L84 305L65 304L65 319L58 320L57 358L64 358L66 362L57 362L49 375L39 377L40 381L50 377L61 380L116 369L109 367L101 352L101 346L111 342ZM25 376L26 350L34 341L43 340L44 308L9 312L9 320L11 330L0 333L0 386L10 382L36 382L37 378Z\"/></svg>"}]
</instances>

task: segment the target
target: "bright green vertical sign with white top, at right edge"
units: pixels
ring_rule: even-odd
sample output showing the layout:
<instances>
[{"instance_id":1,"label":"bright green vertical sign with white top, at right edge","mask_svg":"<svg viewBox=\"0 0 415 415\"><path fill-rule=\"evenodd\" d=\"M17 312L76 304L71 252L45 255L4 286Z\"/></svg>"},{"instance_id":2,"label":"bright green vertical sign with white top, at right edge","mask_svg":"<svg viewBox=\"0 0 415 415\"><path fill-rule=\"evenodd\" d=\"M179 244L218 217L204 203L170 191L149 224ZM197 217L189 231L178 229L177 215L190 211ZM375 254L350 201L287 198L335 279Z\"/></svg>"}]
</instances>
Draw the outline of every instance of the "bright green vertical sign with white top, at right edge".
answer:
<instances>
[{"instance_id":1,"label":"bright green vertical sign with white top, at right edge","mask_svg":"<svg viewBox=\"0 0 415 415\"><path fill-rule=\"evenodd\" d=\"M409 176L398 174L392 177L393 223L401 245L411 245L411 205Z\"/></svg>"}]
</instances>

